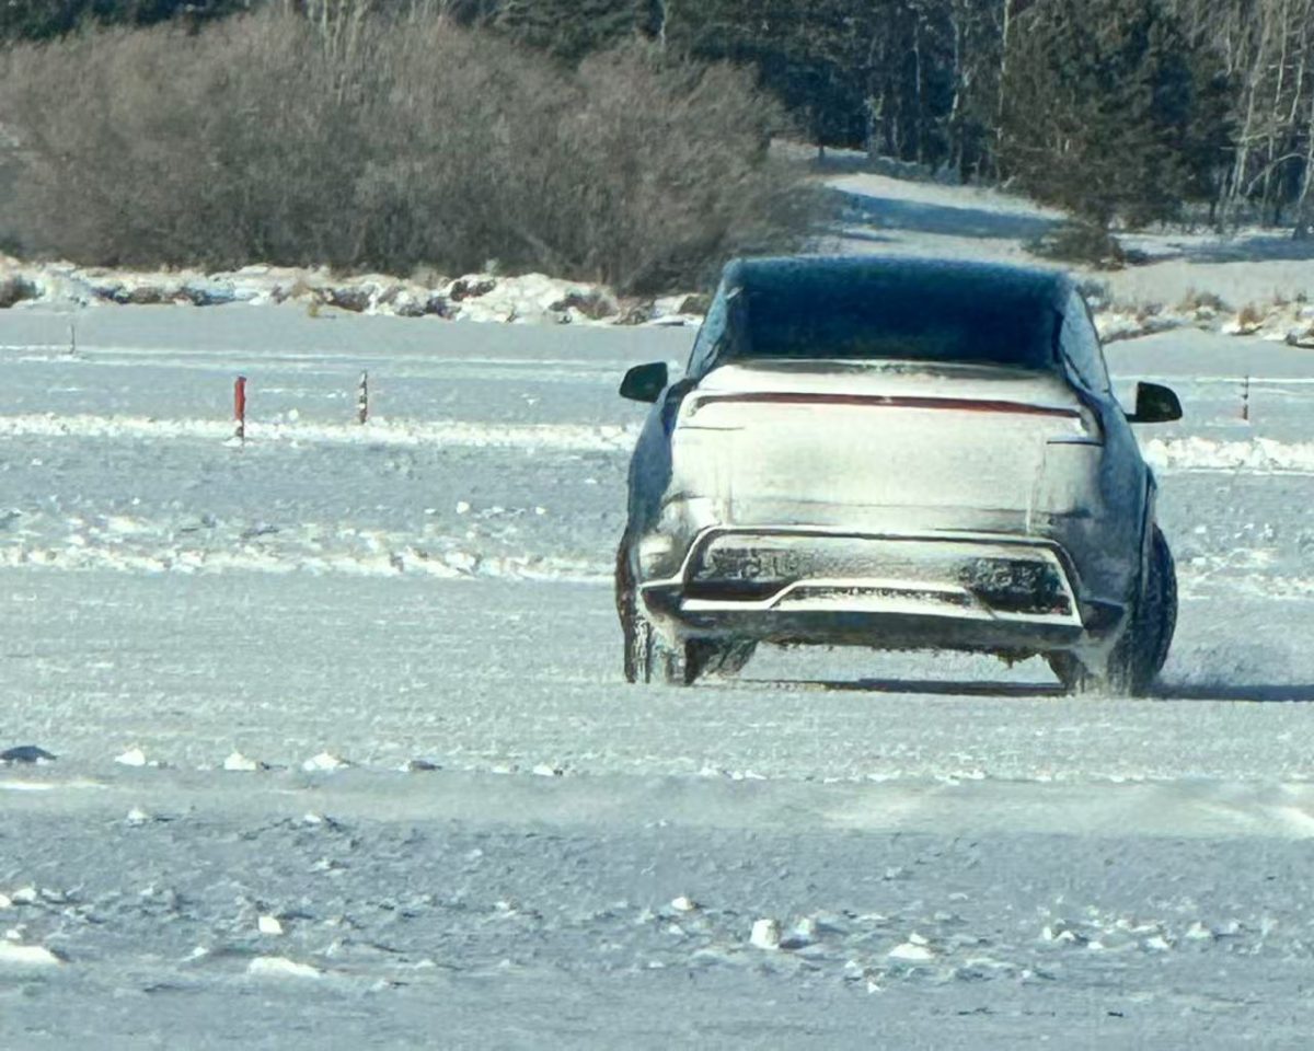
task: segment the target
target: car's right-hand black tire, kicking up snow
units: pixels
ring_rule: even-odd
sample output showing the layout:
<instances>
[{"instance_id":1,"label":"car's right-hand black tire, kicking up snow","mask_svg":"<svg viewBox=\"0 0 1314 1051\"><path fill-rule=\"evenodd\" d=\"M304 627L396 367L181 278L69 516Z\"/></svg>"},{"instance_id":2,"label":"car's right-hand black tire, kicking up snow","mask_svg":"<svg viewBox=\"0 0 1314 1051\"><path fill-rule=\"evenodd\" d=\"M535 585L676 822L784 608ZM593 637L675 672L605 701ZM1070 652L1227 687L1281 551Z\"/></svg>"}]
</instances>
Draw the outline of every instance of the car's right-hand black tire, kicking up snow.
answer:
<instances>
[{"instance_id":1,"label":"car's right-hand black tire, kicking up snow","mask_svg":"<svg viewBox=\"0 0 1314 1051\"><path fill-rule=\"evenodd\" d=\"M1177 573L1158 526L1150 540L1148 573L1131 608L1131 623L1101 667L1071 653L1053 653L1049 665L1068 692L1144 696L1168 660L1177 627Z\"/></svg>"}]
</instances>

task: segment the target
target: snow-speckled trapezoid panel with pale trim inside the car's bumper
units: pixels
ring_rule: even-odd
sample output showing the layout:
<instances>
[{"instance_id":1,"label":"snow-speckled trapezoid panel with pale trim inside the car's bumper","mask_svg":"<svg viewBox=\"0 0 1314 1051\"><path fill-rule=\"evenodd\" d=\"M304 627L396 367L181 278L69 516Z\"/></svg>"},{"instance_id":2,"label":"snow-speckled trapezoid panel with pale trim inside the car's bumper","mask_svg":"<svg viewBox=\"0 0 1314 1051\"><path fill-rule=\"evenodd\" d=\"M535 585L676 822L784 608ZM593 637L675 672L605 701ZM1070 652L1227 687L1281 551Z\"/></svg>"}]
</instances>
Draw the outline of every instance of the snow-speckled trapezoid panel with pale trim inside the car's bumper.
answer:
<instances>
[{"instance_id":1,"label":"snow-speckled trapezoid panel with pale trim inside the car's bumper","mask_svg":"<svg viewBox=\"0 0 1314 1051\"><path fill-rule=\"evenodd\" d=\"M1056 557L1026 544L723 532L690 560L685 598L788 608L915 603L1001 616L1071 617Z\"/></svg>"}]
</instances>

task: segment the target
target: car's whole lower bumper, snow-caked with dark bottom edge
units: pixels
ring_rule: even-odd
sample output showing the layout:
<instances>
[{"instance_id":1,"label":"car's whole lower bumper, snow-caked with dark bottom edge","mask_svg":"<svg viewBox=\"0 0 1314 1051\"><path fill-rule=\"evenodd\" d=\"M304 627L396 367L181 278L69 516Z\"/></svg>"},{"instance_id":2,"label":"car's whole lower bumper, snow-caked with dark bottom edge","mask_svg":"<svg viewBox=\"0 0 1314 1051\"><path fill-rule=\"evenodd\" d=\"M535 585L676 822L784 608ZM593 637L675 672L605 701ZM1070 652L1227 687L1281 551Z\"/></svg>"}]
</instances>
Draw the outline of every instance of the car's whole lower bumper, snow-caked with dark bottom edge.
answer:
<instances>
[{"instance_id":1,"label":"car's whole lower bumper, snow-caked with dark bottom edge","mask_svg":"<svg viewBox=\"0 0 1314 1051\"><path fill-rule=\"evenodd\" d=\"M639 594L673 641L1043 653L1100 645L1123 617L1081 600L1058 544L993 533L717 526Z\"/></svg>"}]
</instances>

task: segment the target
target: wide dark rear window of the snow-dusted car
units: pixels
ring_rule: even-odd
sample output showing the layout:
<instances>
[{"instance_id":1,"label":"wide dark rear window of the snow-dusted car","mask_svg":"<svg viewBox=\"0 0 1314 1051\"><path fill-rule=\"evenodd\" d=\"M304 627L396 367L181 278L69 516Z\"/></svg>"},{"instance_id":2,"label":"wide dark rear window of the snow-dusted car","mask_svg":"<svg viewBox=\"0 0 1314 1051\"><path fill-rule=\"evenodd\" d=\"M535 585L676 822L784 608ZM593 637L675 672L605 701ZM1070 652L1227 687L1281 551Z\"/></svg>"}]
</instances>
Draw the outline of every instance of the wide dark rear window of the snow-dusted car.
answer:
<instances>
[{"instance_id":1,"label":"wide dark rear window of the snow-dusted car","mask_svg":"<svg viewBox=\"0 0 1314 1051\"><path fill-rule=\"evenodd\" d=\"M1034 284L971 273L756 275L731 309L724 359L943 361L1046 370L1058 313Z\"/></svg>"}]
</instances>

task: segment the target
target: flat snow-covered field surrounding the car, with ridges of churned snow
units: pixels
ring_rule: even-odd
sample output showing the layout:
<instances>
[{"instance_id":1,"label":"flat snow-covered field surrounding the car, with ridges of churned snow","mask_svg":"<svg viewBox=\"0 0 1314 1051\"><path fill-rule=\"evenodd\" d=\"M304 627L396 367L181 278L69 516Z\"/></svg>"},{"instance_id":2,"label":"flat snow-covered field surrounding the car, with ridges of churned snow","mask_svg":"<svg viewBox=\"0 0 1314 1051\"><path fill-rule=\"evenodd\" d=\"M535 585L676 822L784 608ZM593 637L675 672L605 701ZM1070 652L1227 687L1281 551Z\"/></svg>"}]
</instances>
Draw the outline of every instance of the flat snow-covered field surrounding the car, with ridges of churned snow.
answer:
<instances>
[{"instance_id":1,"label":"flat snow-covered field surrounding the car, with ridges of churned snow","mask_svg":"<svg viewBox=\"0 0 1314 1051\"><path fill-rule=\"evenodd\" d=\"M690 339L0 311L0 1047L1307 1046L1314 352L1109 349L1188 413L1160 698L627 687L615 388Z\"/></svg>"}]
</instances>

